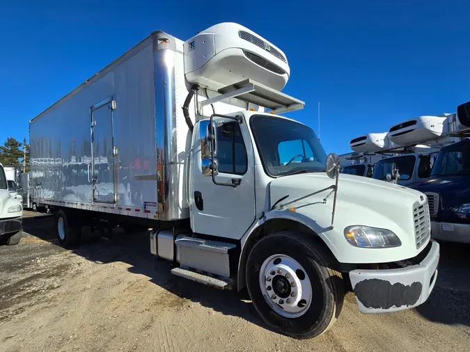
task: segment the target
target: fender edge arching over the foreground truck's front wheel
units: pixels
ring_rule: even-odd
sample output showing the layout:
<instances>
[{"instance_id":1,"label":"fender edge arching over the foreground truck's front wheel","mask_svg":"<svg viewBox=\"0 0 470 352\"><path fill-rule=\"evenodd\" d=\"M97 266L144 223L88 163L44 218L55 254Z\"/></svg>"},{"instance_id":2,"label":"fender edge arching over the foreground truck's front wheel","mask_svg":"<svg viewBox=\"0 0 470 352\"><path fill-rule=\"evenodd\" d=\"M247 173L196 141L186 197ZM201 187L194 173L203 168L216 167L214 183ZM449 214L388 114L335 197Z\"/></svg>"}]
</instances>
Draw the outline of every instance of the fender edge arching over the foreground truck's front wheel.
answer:
<instances>
[{"instance_id":1,"label":"fender edge arching over the foreground truck's front wheel","mask_svg":"<svg viewBox=\"0 0 470 352\"><path fill-rule=\"evenodd\" d=\"M314 221L311 216L307 216L304 214L304 211L301 209L296 209L296 211L289 211L288 209L274 209L272 211L267 212L262 218L260 218L256 223L251 225L249 230L247 230L240 239L240 258L238 260L238 275L237 275L237 287L238 291L245 287L245 269L244 266L246 264L247 254L245 244L251 238L251 236L256 233L260 227L263 227L266 223L273 220L286 220L286 221L295 221L304 227L308 227L313 234L318 235L322 238L324 243L327 244L328 248L331 250L332 253L336 253L336 247L334 243L329 241L325 232L336 232L331 227L322 227L318 224L317 221Z\"/></svg>"}]
</instances>

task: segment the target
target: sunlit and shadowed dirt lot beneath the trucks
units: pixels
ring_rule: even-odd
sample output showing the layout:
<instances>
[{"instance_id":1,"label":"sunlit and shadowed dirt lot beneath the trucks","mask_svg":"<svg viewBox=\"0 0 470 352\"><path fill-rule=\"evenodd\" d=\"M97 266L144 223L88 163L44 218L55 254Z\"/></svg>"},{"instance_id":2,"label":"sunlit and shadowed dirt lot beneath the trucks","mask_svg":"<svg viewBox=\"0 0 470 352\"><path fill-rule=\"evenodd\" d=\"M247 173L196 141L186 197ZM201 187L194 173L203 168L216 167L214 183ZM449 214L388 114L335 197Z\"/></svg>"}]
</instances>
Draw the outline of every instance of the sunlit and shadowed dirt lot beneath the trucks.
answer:
<instances>
[{"instance_id":1,"label":"sunlit and shadowed dirt lot beneath the trucks","mask_svg":"<svg viewBox=\"0 0 470 352\"><path fill-rule=\"evenodd\" d=\"M29 214L30 216L33 214ZM0 247L0 351L469 351L470 246L441 245L427 303L363 315L348 294L334 327L298 341L270 331L243 295L177 278L148 234L64 250L52 218Z\"/></svg>"}]
</instances>

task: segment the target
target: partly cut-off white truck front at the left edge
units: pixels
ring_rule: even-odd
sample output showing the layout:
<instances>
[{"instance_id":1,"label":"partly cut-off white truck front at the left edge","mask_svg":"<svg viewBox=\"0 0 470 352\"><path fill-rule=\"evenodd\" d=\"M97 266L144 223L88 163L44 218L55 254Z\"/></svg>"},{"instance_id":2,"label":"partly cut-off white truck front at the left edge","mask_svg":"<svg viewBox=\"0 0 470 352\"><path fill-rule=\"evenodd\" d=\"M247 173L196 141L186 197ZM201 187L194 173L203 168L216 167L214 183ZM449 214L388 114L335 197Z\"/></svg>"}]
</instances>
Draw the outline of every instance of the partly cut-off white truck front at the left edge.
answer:
<instances>
[{"instance_id":1,"label":"partly cut-off white truck front at the left edge","mask_svg":"<svg viewBox=\"0 0 470 352\"><path fill-rule=\"evenodd\" d=\"M5 171L0 163L0 244L11 246L19 243L22 216L22 204L10 195Z\"/></svg>"}]
</instances>

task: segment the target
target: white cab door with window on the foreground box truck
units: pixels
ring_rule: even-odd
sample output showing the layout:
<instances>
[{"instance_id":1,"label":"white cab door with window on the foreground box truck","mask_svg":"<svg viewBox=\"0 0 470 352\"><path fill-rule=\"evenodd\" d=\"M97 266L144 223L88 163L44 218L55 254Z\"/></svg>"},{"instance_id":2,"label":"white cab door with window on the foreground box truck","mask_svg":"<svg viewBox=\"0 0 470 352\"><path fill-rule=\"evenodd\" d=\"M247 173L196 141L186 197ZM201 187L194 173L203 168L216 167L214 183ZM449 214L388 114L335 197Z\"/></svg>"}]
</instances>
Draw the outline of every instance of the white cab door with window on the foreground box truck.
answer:
<instances>
[{"instance_id":1,"label":"white cab door with window on the foreground box truck","mask_svg":"<svg viewBox=\"0 0 470 352\"><path fill-rule=\"evenodd\" d=\"M201 120L194 128L194 163L189 202L194 232L240 239L255 220L253 146L246 122ZM214 161L210 167L210 131ZM214 177L212 177L214 173Z\"/></svg>"}]
</instances>

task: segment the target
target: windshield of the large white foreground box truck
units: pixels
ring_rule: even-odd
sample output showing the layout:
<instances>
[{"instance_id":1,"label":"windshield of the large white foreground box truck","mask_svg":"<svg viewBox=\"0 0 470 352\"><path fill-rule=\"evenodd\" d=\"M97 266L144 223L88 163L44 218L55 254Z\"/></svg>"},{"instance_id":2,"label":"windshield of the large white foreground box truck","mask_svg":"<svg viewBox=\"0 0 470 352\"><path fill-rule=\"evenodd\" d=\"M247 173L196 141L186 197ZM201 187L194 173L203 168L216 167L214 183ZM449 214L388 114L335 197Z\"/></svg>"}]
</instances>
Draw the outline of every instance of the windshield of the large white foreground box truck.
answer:
<instances>
[{"instance_id":1,"label":"windshield of the large white foreground box truck","mask_svg":"<svg viewBox=\"0 0 470 352\"><path fill-rule=\"evenodd\" d=\"M252 116L250 125L269 176L324 171L327 154L310 127L266 115Z\"/></svg>"}]
</instances>

